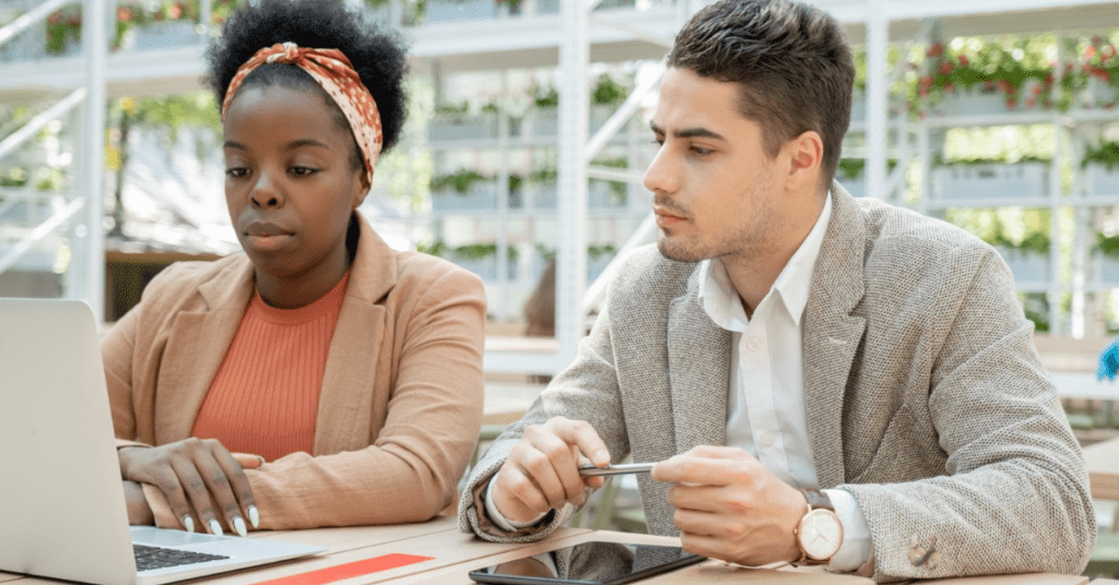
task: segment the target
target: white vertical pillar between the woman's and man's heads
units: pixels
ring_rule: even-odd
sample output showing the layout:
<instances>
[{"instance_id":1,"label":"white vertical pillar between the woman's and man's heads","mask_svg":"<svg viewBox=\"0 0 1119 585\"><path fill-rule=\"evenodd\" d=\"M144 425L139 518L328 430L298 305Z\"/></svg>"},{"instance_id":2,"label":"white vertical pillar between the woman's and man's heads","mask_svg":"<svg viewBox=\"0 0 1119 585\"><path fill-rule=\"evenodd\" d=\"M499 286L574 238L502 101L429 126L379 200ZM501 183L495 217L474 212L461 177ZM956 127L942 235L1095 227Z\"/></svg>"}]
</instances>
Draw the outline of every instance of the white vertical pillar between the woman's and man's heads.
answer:
<instances>
[{"instance_id":1,"label":"white vertical pillar between the woman's and man's heads","mask_svg":"<svg viewBox=\"0 0 1119 585\"><path fill-rule=\"evenodd\" d=\"M589 116L586 21L585 0L563 0L560 9L563 41L560 45L557 370L575 359L585 319L580 301L586 289L586 166L580 153L586 144Z\"/></svg>"}]
</instances>

